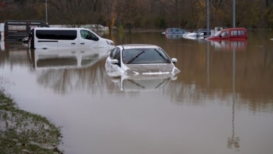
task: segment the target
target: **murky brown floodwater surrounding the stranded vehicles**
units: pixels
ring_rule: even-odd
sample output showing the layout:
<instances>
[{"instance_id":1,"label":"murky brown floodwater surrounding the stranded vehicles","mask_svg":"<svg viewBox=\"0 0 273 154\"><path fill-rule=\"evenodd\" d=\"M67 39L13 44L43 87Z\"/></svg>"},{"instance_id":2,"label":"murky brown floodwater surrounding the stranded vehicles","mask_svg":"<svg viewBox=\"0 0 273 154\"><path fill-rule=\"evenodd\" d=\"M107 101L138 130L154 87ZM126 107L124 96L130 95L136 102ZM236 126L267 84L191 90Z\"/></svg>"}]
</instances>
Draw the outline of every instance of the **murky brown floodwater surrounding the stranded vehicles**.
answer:
<instances>
[{"instance_id":1,"label":"murky brown floodwater surrounding the stranded vehicles","mask_svg":"<svg viewBox=\"0 0 273 154\"><path fill-rule=\"evenodd\" d=\"M106 36L104 36L106 37ZM272 31L207 42L158 33L113 34L176 57L172 79L111 78L107 51L41 51L1 41L0 87L21 109L62 127L69 154L272 154Z\"/></svg>"}]
</instances>

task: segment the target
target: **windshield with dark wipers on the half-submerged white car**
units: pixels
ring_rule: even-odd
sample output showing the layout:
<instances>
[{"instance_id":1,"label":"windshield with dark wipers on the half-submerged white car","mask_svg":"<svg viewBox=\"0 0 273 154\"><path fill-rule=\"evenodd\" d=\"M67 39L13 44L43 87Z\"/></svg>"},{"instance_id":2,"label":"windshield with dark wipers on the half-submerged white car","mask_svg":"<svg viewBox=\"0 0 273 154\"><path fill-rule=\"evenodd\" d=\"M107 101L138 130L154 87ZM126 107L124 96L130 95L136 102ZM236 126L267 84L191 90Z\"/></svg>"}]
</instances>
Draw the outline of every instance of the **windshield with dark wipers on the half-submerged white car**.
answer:
<instances>
[{"instance_id":1,"label":"windshield with dark wipers on the half-submerged white car","mask_svg":"<svg viewBox=\"0 0 273 154\"><path fill-rule=\"evenodd\" d=\"M159 48L131 48L123 50L124 64L171 63L166 53Z\"/></svg>"}]
</instances>

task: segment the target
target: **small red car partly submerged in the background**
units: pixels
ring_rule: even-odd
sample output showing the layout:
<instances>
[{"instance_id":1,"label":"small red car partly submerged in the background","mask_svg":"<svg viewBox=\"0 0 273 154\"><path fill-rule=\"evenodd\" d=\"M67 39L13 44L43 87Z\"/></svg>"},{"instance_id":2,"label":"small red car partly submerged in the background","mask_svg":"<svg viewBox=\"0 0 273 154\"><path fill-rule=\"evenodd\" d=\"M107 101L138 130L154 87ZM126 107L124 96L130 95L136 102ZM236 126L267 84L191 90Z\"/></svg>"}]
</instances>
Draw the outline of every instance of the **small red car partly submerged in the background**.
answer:
<instances>
[{"instance_id":1,"label":"small red car partly submerged in the background","mask_svg":"<svg viewBox=\"0 0 273 154\"><path fill-rule=\"evenodd\" d=\"M247 34L245 28L228 28L217 31L213 36L206 38L207 40L246 40Z\"/></svg>"}]
</instances>

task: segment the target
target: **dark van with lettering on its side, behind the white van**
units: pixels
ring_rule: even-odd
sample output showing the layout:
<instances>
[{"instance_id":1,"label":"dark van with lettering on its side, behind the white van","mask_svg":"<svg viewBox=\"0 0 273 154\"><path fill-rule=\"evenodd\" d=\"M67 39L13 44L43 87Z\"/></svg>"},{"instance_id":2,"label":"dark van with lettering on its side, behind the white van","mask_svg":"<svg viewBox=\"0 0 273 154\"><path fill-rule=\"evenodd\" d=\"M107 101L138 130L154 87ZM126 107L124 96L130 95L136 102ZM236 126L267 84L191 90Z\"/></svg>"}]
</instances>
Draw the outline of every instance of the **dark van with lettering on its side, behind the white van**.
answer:
<instances>
[{"instance_id":1,"label":"dark van with lettering on its side, behind the white van","mask_svg":"<svg viewBox=\"0 0 273 154\"><path fill-rule=\"evenodd\" d=\"M49 27L45 22L38 20L5 20L4 40L22 41L29 36L30 29L34 27Z\"/></svg>"}]
</instances>

